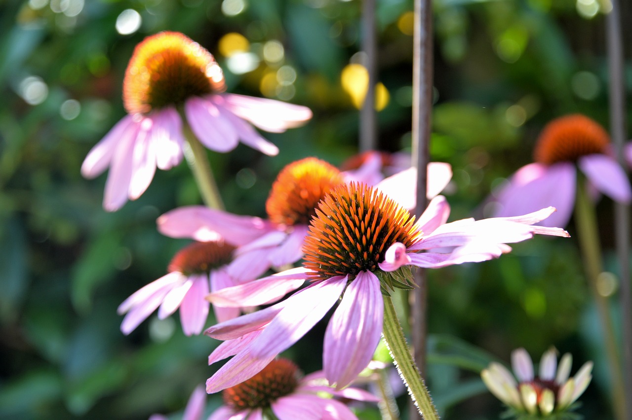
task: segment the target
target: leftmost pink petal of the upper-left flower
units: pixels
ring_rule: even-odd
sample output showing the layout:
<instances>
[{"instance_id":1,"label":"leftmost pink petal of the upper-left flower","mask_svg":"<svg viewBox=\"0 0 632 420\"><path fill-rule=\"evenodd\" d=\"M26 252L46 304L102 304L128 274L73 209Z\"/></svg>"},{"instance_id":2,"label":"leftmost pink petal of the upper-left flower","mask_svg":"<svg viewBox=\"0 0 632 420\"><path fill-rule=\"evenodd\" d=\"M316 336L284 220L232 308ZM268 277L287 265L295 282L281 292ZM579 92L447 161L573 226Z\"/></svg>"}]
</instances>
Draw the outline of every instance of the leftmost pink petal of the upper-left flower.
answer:
<instances>
[{"instance_id":1,"label":"leftmost pink petal of the upper-left flower","mask_svg":"<svg viewBox=\"0 0 632 420\"><path fill-rule=\"evenodd\" d=\"M107 132L99 143L88 152L81 165L81 173L85 178L94 178L106 170L110 165L114 151L123 138L128 138L130 133L137 131L136 123L132 115L125 115L119 122Z\"/></svg>"}]
</instances>

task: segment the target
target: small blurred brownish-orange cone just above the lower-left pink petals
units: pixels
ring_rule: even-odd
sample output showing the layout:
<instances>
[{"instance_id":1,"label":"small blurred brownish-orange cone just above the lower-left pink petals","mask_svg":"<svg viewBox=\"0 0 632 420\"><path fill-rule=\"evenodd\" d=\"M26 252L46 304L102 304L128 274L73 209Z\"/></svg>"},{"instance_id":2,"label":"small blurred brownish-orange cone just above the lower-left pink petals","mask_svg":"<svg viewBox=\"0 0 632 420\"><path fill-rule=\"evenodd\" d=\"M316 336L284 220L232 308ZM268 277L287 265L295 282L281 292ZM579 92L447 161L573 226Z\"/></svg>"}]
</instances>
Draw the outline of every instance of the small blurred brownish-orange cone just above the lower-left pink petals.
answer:
<instances>
[{"instance_id":1,"label":"small blurred brownish-orange cone just above the lower-left pink petals","mask_svg":"<svg viewBox=\"0 0 632 420\"><path fill-rule=\"evenodd\" d=\"M224 241L193 242L174 255L167 270L185 275L209 272L231 262L234 249Z\"/></svg>"}]
</instances>

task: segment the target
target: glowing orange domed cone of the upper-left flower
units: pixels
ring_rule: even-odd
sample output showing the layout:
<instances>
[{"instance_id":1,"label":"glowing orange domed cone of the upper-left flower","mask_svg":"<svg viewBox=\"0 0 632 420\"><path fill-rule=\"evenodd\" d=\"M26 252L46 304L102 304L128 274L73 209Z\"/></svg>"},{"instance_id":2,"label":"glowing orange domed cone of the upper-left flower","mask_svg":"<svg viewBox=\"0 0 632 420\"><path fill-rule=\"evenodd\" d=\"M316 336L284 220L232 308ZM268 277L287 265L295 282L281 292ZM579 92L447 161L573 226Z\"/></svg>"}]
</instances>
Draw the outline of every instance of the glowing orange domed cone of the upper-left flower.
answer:
<instances>
[{"instance_id":1,"label":"glowing orange domed cone of the upper-left flower","mask_svg":"<svg viewBox=\"0 0 632 420\"><path fill-rule=\"evenodd\" d=\"M125 71L123 104L128 114L147 114L224 88L210 52L182 33L161 32L136 46Z\"/></svg>"}]
</instances>

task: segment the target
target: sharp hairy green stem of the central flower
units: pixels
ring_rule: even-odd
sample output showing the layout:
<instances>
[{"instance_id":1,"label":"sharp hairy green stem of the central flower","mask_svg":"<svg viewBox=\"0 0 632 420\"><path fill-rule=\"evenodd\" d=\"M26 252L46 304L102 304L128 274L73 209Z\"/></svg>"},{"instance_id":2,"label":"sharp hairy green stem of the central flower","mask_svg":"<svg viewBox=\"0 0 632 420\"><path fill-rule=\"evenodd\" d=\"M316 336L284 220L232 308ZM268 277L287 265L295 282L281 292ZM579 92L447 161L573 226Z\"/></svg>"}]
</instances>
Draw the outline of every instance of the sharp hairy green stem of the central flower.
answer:
<instances>
[{"instance_id":1,"label":"sharp hairy green stem of the central flower","mask_svg":"<svg viewBox=\"0 0 632 420\"><path fill-rule=\"evenodd\" d=\"M428 389L423 383L423 378L419 374L410 349L408 349L408 344L406 344L406 338L395 313L391 296L384 296L384 328L382 331L399 375L406 383L408 393L417 405L419 413L425 420L439 419L437 409L432 404Z\"/></svg>"}]
</instances>

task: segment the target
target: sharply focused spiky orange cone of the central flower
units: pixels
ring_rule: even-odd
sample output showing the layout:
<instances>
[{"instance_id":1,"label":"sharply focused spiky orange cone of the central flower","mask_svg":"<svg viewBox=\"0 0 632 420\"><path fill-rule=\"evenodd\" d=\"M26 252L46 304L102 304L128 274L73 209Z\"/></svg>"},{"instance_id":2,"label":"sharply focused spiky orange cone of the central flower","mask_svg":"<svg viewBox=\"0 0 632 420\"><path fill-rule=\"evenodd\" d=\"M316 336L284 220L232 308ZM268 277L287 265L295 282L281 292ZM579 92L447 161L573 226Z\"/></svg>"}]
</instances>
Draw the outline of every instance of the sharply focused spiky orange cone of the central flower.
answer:
<instances>
[{"instance_id":1,"label":"sharply focused spiky orange cone of the central flower","mask_svg":"<svg viewBox=\"0 0 632 420\"><path fill-rule=\"evenodd\" d=\"M332 190L316 214L303 246L315 280L376 271L393 243L410 247L420 235L408 210L365 184Z\"/></svg>"}]
</instances>

